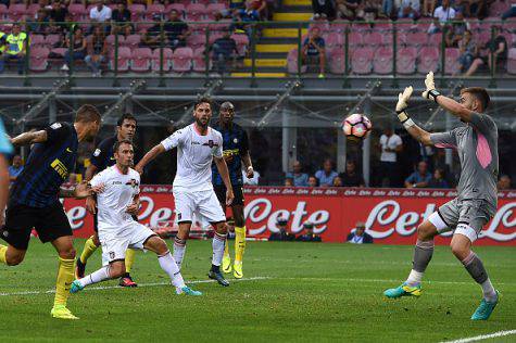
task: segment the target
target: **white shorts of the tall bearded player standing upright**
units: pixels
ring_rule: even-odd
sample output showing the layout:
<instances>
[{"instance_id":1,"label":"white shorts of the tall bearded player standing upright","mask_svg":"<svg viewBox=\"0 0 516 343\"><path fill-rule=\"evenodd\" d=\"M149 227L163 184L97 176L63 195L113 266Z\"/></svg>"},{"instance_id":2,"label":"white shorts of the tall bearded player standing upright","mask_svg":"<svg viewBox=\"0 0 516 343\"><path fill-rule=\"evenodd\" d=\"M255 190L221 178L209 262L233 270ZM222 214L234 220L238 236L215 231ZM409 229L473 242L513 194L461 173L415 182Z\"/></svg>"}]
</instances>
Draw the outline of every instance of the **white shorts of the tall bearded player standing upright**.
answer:
<instances>
[{"instance_id":1,"label":"white shorts of the tall bearded player standing upright","mask_svg":"<svg viewBox=\"0 0 516 343\"><path fill-rule=\"evenodd\" d=\"M211 224L226 221L221 203L213 189L206 191L189 192L185 189L173 190L176 204L177 223L192 223L193 214L199 214Z\"/></svg>"}]
</instances>

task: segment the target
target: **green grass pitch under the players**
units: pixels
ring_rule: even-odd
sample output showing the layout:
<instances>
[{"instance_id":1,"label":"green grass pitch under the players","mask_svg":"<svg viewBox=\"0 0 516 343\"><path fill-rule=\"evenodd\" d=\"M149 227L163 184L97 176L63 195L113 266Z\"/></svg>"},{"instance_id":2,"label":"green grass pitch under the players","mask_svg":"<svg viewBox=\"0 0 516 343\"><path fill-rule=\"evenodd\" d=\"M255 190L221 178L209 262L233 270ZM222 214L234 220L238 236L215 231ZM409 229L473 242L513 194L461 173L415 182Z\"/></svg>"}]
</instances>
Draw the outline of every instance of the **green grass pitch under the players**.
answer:
<instances>
[{"instance_id":1,"label":"green grass pitch under the players","mask_svg":"<svg viewBox=\"0 0 516 343\"><path fill-rule=\"evenodd\" d=\"M80 251L84 240L75 244ZM188 243L187 281L207 279L211 250L210 241ZM68 308L80 320L63 321L49 315L51 293L2 294L0 342L437 342L516 329L516 249L475 251L502 294L487 322L469 319L481 291L446 246L436 249L420 298L390 301L382 291L406 278L412 246L248 242L246 278L268 279L235 281L229 288L193 284L204 293L201 297L177 296L168 285L90 290L68 300ZM87 272L100 266L99 253L89 261ZM53 247L33 240L21 266L0 266L0 293L51 290L56 265ZM137 253L131 275L140 283L167 281L152 253ZM234 280L229 275L228 279ZM516 335L496 341L514 342Z\"/></svg>"}]
</instances>

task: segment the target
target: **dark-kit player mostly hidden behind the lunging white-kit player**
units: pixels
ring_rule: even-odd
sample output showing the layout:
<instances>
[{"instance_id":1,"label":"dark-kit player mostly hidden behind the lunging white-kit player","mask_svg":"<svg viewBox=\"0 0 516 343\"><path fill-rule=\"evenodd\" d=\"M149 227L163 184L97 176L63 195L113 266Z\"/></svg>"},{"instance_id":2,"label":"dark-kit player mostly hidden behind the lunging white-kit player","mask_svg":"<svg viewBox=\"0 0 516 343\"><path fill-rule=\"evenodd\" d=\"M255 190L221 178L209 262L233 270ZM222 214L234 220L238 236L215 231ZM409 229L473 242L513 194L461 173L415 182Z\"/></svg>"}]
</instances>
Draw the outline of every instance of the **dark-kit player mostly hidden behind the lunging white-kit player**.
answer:
<instances>
[{"instance_id":1,"label":"dark-kit player mostly hidden behind the lunging white-kit player","mask_svg":"<svg viewBox=\"0 0 516 343\"><path fill-rule=\"evenodd\" d=\"M116 135L109 137L101 141L97 149L95 150L93 154L91 155L91 164L86 169L86 181L91 180L91 178L99 172L102 172L106 167L110 167L115 164L115 158L113 156L113 147L115 142L122 140L130 140L136 134L136 118L129 114L123 114L118 122L116 123ZM83 253L80 254L79 258L77 258L77 264L75 267L75 277L77 279L84 278L85 270L86 270L86 263L88 258L95 253L97 247L100 246L99 236L97 233L97 201L95 195L89 196L86 200L86 208L89 213L93 215L93 229L95 234L91 236L85 243L83 249ZM135 220L138 220L137 215L134 217ZM135 261L135 251L128 250L125 256L125 268L126 274L122 276L119 279L119 285L122 287L137 287L138 284L133 281L130 277L130 269L133 267L133 263Z\"/></svg>"}]
</instances>

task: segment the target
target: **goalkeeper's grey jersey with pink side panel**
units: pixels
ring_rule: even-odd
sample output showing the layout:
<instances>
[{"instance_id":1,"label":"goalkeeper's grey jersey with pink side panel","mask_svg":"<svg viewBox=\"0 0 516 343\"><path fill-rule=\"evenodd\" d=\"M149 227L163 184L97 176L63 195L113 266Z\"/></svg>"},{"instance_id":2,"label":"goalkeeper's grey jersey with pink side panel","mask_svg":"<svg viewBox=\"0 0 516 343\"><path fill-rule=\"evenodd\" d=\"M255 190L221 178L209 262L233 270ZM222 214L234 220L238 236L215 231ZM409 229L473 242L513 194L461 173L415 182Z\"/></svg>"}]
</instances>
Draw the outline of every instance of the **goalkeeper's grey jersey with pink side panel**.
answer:
<instances>
[{"instance_id":1,"label":"goalkeeper's grey jersey with pink side panel","mask_svg":"<svg viewBox=\"0 0 516 343\"><path fill-rule=\"evenodd\" d=\"M482 199L496 209L499 174L498 127L487 114L473 113L470 122L449 132L431 134L437 148L453 148L461 160L458 200ZM493 211L493 208L489 208Z\"/></svg>"}]
</instances>

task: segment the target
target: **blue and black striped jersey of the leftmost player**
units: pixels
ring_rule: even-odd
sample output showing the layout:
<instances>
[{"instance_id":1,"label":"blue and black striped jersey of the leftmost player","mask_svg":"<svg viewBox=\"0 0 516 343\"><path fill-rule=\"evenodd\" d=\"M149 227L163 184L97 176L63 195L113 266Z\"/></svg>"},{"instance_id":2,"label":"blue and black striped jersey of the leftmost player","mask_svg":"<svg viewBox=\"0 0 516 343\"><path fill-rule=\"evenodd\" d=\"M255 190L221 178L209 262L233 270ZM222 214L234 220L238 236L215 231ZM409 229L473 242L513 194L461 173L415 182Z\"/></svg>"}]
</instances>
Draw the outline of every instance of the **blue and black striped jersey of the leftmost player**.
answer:
<instances>
[{"instance_id":1,"label":"blue and black striped jersey of the leftmost player","mask_svg":"<svg viewBox=\"0 0 516 343\"><path fill-rule=\"evenodd\" d=\"M34 144L23 172L11 188L11 204L46 207L59 202L61 185L75 170L79 144L75 127L56 122L45 130L47 141Z\"/></svg>"}]
</instances>

